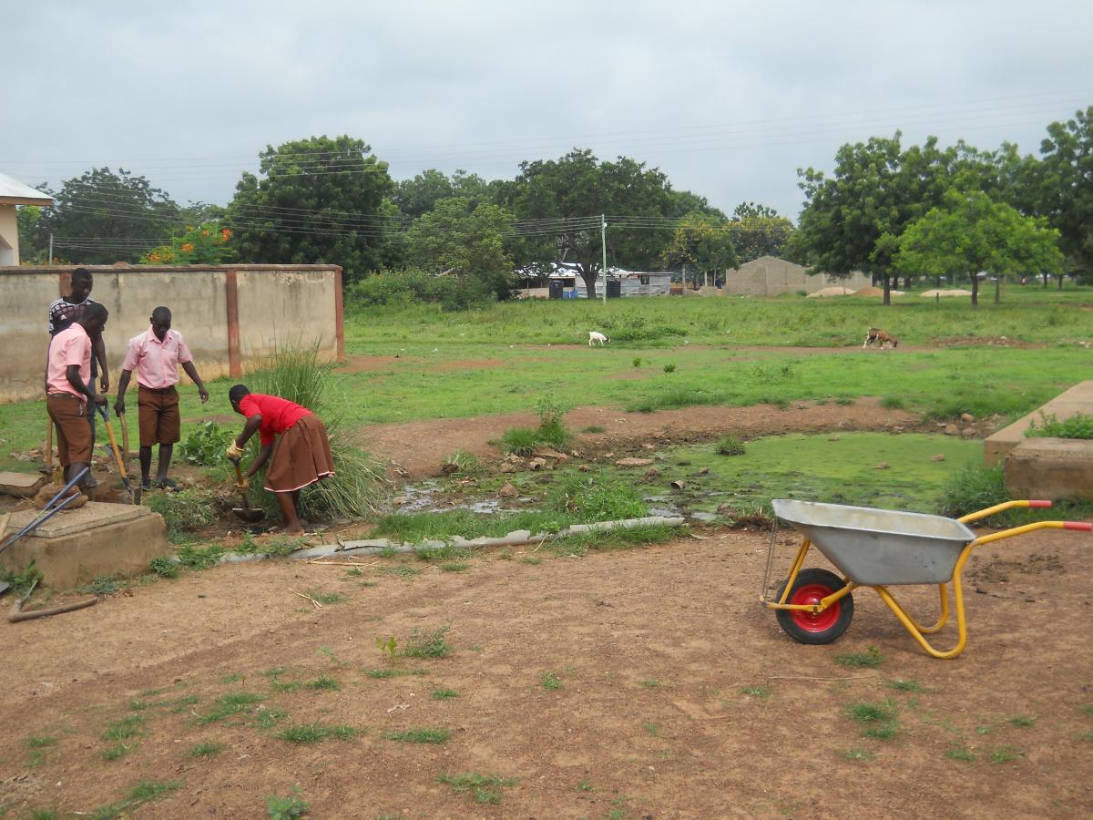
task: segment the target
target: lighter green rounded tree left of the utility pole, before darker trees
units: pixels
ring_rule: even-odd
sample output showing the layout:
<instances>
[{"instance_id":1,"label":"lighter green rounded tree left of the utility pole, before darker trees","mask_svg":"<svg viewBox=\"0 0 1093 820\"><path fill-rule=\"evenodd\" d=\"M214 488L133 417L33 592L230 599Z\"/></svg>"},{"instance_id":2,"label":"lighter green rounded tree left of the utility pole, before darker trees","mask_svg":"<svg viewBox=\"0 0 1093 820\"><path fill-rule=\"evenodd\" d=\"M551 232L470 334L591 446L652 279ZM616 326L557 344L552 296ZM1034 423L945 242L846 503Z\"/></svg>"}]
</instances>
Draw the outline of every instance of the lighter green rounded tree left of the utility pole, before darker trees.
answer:
<instances>
[{"instance_id":1,"label":"lighter green rounded tree left of the utility pole, before darker trees","mask_svg":"<svg viewBox=\"0 0 1093 820\"><path fill-rule=\"evenodd\" d=\"M505 236L512 231L512 216L497 206L450 197L407 231L408 256L425 270L459 277L477 293L508 298L515 280Z\"/></svg>"}]
</instances>

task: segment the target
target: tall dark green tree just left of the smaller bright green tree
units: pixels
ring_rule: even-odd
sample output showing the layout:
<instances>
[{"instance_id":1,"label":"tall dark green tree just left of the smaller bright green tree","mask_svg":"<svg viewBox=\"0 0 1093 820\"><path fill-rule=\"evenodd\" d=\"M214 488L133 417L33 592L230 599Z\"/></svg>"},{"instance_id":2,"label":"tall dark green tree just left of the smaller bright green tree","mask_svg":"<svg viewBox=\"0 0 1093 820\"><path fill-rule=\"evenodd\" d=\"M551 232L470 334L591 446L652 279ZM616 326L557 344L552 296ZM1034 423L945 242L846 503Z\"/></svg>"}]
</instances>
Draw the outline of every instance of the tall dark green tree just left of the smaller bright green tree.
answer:
<instances>
[{"instance_id":1,"label":"tall dark green tree just left of the smaller bright green tree","mask_svg":"<svg viewBox=\"0 0 1093 820\"><path fill-rule=\"evenodd\" d=\"M952 187L954 168L965 177L977 167L963 143L941 150L936 137L904 150L896 131L891 139L843 145L832 177L813 168L798 169L806 206L797 248L815 269L833 276L861 270L884 281L891 304L893 257L904 229L942 201Z\"/></svg>"}]
</instances>

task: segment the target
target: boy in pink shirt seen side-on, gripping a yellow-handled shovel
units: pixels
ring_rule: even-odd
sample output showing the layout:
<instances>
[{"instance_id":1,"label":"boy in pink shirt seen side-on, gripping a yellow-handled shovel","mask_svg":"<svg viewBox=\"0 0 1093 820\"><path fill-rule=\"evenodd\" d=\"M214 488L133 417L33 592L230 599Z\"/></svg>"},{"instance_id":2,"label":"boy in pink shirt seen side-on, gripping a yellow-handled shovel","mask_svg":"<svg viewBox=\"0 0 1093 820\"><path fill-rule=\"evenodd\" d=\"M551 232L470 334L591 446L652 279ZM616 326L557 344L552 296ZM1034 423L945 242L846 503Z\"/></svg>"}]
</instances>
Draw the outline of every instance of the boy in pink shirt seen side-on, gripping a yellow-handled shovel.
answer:
<instances>
[{"instance_id":1,"label":"boy in pink shirt seen side-on, gripping a yellow-handled shovel","mask_svg":"<svg viewBox=\"0 0 1093 820\"><path fill-rule=\"evenodd\" d=\"M101 337L108 313L97 302L49 343L46 370L46 411L57 425L57 454L64 480L91 466L91 426L87 417L106 397L95 393L91 378L92 338ZM89 471L90 472L90 471ZM87 489L86 476L81 485Z\"/></svg>"}]
</instances>

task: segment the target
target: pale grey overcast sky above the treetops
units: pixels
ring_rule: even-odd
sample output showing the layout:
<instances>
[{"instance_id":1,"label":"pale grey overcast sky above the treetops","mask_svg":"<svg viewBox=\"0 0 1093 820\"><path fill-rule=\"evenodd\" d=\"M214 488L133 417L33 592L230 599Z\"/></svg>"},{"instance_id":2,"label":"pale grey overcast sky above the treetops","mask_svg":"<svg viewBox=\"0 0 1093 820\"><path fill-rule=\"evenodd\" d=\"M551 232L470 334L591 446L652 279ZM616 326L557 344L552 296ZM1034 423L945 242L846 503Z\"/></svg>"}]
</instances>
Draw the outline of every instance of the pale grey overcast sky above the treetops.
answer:
<instances>
[{"instance_id":1,"label":"pale grey overcast sky above the treetops","mask_svg":"<svg viewBox=\"0 0 1093 820\"><path fill-rule=\"evenodd\" d=\"M23 0L0 24L0 172L120 165L180 203L226 203L267 144L346 133L396 179L580 147L796 219L797 168L844 142L1036 153L1093 104L1084 0Z\"/></svg>"}]
</instances>

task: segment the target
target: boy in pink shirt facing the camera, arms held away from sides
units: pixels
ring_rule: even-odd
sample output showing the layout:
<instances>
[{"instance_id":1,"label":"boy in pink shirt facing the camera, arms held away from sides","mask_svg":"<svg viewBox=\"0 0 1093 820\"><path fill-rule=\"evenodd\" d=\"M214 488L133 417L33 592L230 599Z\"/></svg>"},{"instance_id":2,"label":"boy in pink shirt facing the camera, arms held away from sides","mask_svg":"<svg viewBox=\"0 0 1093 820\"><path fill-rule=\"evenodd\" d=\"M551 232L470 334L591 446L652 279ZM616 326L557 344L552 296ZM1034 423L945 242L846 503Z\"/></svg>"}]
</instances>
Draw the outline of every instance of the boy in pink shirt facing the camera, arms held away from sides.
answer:
<instances>
[{"instance_id":1,"label":"boy in pink shirt facing the camera, arms held away from sides","mask_svg":"<svg viewBox=\"0 0 1093 820\"><path fill-rule=\"evenodd\" d=\"M178 389L175 387L178 384L178 365L183 365L186 375L198 386L202 405L209 400L209 391L193 366L193 356L183 341L183 335L171 329L171 311L162 306L155 308L149 323L149 329L130 339L126 348L114 412L121 415L126 411L126 390L129 389L129 379L136 370L141 487L148 489L152 485L149 478L152 470L152 446L158 444L160 467L155 480L160 487L174 490L175 482L167 478L167 468L171 466L175 442L181 436Z\"/></svg>"}]
</instances>

